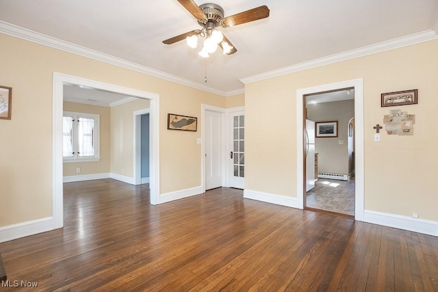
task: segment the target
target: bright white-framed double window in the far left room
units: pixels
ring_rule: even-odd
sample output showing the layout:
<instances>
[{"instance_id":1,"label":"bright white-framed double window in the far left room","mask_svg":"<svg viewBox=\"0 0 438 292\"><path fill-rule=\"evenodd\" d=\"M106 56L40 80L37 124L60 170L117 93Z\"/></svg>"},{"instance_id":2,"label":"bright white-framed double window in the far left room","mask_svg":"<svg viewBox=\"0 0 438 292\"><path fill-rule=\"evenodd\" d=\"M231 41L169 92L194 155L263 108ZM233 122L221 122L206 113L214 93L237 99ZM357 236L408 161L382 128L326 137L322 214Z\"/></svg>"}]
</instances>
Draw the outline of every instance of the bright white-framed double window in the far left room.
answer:
<instances>
[{"instance_id":1,"label":"bright white-framed double window in the far left room","mask_svg":"<svg viewBox=\"0 0 438 292\"><path fill-rule=\"evenodd\" d=\"M64 162L98 161L99 115L64 111L62 120Z\"/></svg>"}]
</instances>

